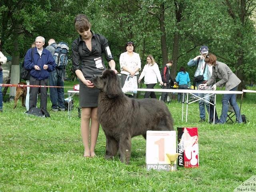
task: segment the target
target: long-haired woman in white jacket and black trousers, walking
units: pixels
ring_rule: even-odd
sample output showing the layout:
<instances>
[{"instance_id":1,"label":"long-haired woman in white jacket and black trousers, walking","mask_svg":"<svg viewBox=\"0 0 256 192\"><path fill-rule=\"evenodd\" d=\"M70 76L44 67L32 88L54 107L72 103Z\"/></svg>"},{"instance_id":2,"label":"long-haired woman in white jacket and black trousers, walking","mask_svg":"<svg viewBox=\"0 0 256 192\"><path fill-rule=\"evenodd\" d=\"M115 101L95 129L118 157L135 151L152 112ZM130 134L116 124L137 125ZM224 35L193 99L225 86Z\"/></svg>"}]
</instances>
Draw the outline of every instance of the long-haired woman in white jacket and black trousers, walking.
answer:
<instances>
[{"instance_id":1,"label":"long-haired woman in white jacket and black trousers, walking","mask_svg":"<svg viewBox=\"0 0 256 192\"><path fill-rule=\"evenodd\" d=\"M147 56L147 64L144 66L142 73L140 74L139 83L144 78L144 83L147 86L147 89L154 89L154 86L157 82L160 82L161 85L164 83L162 82L161 74L152 55ZM144 94L144 98L156 98L156 94L153 91L146 92Z\"/></svg>"}]
</instances>

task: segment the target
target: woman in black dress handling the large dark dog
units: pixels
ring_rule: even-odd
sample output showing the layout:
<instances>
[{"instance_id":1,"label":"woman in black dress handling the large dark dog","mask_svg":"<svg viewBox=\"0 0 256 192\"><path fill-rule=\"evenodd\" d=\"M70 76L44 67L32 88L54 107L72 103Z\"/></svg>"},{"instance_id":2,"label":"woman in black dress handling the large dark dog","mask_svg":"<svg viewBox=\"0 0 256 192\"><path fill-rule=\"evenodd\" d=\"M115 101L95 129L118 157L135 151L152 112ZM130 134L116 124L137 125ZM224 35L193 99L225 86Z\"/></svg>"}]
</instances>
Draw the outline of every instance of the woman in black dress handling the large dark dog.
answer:
<instances>
[{"instance_id":1,"label":"woman in black dress handling the large dark dog","mask_svg":"<svg viewBox=\"0 0 256 192\"><path fill-rule=\"evenodd\" d=\"M90 22L87 16L79 14L75 18L75 28L79 37L72 43L72 67L79 78L79 104L82 108L81 134L84 144L84 156L95 156L95 145L99 133L99 122L97 120L97 106L99 91L90 82L90 78L102 74L106 69L103 53L112 70L115 70L108 40L90 30ZM91 126L90 126L91 121ZM89 145L90 138L90 145Z\"/></svg>"}]
</instances>

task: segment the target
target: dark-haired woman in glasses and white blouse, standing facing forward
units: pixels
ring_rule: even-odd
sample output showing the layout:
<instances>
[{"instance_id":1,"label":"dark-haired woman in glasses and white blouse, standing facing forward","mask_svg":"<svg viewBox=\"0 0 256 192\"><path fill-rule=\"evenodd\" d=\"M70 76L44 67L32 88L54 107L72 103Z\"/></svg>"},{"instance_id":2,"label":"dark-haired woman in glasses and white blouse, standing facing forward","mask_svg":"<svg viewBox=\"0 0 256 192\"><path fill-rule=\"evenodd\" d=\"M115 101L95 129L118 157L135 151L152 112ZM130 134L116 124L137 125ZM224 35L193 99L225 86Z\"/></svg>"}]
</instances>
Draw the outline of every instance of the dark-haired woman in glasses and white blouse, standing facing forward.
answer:
<instances>
[{"instance_id":1,"label":"dark-haired woman in glasses and white blouse, standing facing forward","mask_svg":"<svg viewBox=\"0 0 256 192\"><path fill-rule=\"evenodd\" d=\"M126 52L122 53L119 59L121 69L121 86L124 86L124 82L128 75L137 79L138 86L138 74L141 68L140 55L134 52L133 42L128 42L125 47ZM126 94L126 96L136 98L137 94L133 94L133 96Z\"/></svg>"}]
</instances>

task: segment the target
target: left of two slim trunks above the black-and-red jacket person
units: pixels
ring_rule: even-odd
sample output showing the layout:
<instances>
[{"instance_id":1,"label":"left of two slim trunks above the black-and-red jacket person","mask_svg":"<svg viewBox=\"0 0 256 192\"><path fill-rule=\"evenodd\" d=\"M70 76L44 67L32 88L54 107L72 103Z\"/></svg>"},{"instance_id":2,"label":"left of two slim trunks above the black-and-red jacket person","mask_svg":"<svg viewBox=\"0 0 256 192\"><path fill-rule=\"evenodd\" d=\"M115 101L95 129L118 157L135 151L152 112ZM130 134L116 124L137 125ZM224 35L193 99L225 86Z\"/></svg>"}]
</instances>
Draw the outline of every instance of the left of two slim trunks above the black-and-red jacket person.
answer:
<instances>
[{"instance_id":1,"label":"left of two slim trunks above the black-and-red jacket person","mask_svg":"<svg viewBox=\"0 0 256 192\"><path fill-rule=\"evenodd\" d=\"M161 50L162 50L162 65L167 63L167 44L166 44L166 31L164 25L164 4L160 4L159 14L160 30L161 30Z\"/></svg>"}]
</instances>

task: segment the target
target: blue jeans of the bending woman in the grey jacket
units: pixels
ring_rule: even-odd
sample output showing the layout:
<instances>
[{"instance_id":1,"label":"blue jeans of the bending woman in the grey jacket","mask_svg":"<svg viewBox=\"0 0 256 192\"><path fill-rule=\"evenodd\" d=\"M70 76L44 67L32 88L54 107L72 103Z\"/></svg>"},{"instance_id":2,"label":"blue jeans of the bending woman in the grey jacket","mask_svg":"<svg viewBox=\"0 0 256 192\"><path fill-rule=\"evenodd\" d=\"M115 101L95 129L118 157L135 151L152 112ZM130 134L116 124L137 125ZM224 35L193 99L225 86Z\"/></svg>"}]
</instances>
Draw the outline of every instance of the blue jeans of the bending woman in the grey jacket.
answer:
<instances>
[{"instance_id":1,"label":"blue jeans of the bending woman in the grey jacket","mask_svg":"<svg viewBox=\"0 0 256 192\"><path fill-rule=\"evenodd\" d=\"M237 87L232 88L230 91L236 91ZM238 104L236 103L236 94L223 94L222 97L222 110L220 115L220 124L226 123L226 119L228 116L228 102L233 107L234 112L236 114L236 120L238 123L242 123L242 116L240 114L240 109Z\"/></svg>"}]
</instances>

